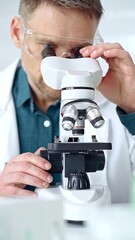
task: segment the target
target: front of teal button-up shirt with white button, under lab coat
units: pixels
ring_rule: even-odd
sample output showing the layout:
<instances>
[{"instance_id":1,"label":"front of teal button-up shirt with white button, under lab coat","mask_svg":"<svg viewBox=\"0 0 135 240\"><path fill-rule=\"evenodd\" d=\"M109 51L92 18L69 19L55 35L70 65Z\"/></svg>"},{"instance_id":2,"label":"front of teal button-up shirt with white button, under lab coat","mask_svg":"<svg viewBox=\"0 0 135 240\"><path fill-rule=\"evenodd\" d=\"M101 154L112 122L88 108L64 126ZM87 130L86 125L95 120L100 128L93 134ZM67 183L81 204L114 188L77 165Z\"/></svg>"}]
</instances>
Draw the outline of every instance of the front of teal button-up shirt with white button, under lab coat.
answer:
<instances>
[{"instance_id":1,"label":"front of teal button-up shirt with white button, under lab coat","mask_svg":"<svg viewBox=\"0 0 135 240\"><path fill-rule=\"evenodd\" d=\"M21 66L18 66L12 88L16 117L18 123L20 153L34 153L39 147L47 149L48 143L59 136L60 102L42 112L34 104L27 76ZM60 174L53 175L53 184L61 181Z\"/></svg>"}]
</instances>

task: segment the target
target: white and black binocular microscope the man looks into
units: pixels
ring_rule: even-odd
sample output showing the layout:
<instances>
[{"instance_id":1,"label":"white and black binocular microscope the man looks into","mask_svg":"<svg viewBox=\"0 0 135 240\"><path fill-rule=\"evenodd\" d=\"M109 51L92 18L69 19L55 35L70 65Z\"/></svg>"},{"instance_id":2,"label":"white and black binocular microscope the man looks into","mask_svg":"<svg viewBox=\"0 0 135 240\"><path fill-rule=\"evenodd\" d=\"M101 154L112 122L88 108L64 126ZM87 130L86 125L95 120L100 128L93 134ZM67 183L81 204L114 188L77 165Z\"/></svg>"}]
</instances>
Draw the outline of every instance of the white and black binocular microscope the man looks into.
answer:
<instances>
[{"instance_id":1,"label":"white and black binocular microscope the man looks into","mask_svg":"<svg viewBox=\"0 0 135 240\"><path fill-rule=\"evenodd\" d=\"M83 140L86 119L94 128L104 124L99 106L94 102L102 70L95 59L50 55L43 57L41 73L45 84L61 90L60 135L48 144L46 151L41 151L41 156L51 162L50 173L62 174L62 183L39 189L38 195L39 198L44 194L60 196L64 219L86 221L91 207L111 202L109 188L91 185L88 176L104 169L104 150L110 150L111 143L98 142L95 135L91 136L91 142Z\"/></svg>"}]
</instances>

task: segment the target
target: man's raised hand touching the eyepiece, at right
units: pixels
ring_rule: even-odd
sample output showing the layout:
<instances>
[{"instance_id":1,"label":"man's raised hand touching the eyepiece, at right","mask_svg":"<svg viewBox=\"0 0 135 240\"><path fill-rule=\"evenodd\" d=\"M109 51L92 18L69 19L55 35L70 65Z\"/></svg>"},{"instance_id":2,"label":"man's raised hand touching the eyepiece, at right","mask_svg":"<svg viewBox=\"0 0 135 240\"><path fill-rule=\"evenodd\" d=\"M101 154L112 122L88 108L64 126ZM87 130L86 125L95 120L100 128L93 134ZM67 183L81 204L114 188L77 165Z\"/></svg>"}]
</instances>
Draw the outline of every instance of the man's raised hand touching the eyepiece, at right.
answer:
<instances>
[{"instance_id":1,"label":"man's raised hand touching the eyepiece, at right","mask_svg":"<svg viewBox=\"0 0 135 240\"><path fill-rule=\"evenodd\" d=\"M119 43L103 43L82 48L83 57L102 57L108 63L108 72L98 90L125 112L135 112L135 65L128 52Z\"/></svg>"}]
</instances>

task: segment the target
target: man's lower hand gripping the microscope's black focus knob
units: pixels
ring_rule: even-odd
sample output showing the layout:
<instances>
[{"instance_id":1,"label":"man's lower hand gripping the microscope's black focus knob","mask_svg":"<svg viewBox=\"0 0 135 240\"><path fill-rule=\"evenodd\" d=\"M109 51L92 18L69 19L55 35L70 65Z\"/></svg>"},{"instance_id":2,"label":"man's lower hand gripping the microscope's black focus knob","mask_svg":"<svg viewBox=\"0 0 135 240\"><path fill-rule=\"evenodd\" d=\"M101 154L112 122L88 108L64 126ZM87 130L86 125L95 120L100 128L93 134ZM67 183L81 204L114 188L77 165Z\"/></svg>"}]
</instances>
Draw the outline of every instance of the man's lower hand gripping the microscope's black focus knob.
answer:
<instances>
[{"instance_id":1,"label":"man's lower hand gripping the microscope's black focus knob","mask_svg":"<svg viewBox=\"0 0 135 240\"><path fill-rule=\"evenodd\" d=\"M36 192L25 190L26 185L38 188L47 188L52 182L52 176L45 170L51 168L51 164L38 156L39 148L35 154L23 153L9 161L0 174L1 196L36 196Z\"/></svg>"}]
</instances>

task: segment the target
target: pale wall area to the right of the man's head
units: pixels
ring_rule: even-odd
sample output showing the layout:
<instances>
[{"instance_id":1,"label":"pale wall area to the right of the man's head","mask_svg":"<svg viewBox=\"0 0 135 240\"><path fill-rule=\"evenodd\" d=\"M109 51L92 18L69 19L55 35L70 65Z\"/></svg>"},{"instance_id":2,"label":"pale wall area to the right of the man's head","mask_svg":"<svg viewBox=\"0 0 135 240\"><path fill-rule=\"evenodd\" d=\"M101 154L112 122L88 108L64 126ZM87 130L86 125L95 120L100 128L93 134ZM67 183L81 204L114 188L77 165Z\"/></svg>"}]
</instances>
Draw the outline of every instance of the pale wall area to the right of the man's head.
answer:
<instances>
[{"instance_id":1,"label":"pale wall area to the right of the man's head","mask_svg":"<svg viewBox=\"0 0 135 240\"><path fill-rule=\"evenodd\" d=\"M101 0L104 16L100 32L104 41L120 42L135 59L135 0Z\"/></svg>"}]
</instances>

